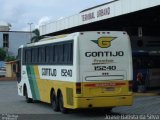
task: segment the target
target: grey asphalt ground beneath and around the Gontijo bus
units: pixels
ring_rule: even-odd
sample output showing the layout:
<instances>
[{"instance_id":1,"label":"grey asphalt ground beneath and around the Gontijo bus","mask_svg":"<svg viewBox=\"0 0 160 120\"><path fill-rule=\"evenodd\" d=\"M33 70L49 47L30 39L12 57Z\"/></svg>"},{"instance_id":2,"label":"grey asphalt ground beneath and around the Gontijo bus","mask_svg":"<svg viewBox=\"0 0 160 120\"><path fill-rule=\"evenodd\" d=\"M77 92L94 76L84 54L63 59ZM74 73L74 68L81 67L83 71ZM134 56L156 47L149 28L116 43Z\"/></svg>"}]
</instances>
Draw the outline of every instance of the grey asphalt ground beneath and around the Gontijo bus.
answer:
<instances>
[{"instance_id":1,"label":"grey asphalt ground beneath and around the Gontijo bus","mask_svg":"<svg viewBox=\"0 0 160 120\"><path fill-rule=\"evenodd\" d=\"M104 120L110 116L138 115L144 119L160 119L160 96L153 93L137 93L132 106L116 107L108 113L104 109L75 110L68 114L54 112L49 104L36 102L26 103L25 98L18 96L16 81L0 81L0 120ZM148 115L148 116L147 116ZM156 116L157 115L157 116ZM108 117L109 116L109 117ZM115 118L115 119L120 119ZM129 118L131 119L131 118ZM159 120L158 119L158 120Z\"/></svg>"}]
</instances>

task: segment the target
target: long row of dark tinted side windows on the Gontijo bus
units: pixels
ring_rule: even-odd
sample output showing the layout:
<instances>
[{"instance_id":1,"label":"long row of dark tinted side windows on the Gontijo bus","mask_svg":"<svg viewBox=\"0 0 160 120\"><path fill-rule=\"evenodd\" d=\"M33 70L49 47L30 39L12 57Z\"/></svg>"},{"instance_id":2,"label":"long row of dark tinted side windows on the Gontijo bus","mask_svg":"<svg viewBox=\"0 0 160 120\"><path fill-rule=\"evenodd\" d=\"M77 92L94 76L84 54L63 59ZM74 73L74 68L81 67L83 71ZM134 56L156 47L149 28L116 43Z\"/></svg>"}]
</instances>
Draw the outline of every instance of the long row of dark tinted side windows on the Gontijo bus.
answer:
<instances>
[{"instance_id":1,"label":"long row of dark tinted side windows on the Gontijo bus","mask_svg":"<svg viewBox=\"0 0 160 120\"><path fill-rule=\"evenodd\" d=\"M73 41L24 48L23 64L71 65Z\"/></svg>"}]
</instances>

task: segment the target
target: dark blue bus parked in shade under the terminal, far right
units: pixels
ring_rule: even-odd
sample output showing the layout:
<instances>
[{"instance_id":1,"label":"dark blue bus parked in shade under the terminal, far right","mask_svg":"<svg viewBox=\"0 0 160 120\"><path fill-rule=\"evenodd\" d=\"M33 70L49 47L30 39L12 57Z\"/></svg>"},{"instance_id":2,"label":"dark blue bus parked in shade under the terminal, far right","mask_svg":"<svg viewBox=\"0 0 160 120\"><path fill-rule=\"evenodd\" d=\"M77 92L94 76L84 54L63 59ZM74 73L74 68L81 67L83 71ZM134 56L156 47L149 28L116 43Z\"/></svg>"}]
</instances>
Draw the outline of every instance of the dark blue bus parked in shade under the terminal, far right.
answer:
<instances>
[{"instance_id":1,"label":"dark blue bus parked in shade under the terminal, far right","mask_svg":"<svg viewBox=\"0 0 160 120\"><path fill-rule=\"evenodd\" d=\"M142 73L146 89L160 88L160 53L133 51L134 91L137 91L137 74Z\"/></svg>"}]
</instances>

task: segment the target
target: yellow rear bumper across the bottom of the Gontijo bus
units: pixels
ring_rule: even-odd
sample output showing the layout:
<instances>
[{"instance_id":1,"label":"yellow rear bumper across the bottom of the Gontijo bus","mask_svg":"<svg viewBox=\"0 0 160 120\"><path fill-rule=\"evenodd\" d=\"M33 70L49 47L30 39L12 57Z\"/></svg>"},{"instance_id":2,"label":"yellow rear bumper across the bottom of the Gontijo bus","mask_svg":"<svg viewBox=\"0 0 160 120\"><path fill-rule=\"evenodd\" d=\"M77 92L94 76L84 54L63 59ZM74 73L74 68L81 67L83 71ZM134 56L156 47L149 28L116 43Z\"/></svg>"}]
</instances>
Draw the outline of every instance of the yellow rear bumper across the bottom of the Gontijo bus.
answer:
<instances>
[{"instance_id":1,"label":"yellow rear bumper across the bottom of the Gontijo bus","mask_svg":"<svg viewBox=\"0 0 160 120\"><path fill-rule=\"evenodd\" d=\"M75 98L74 109L131 106L133 96Z\"/></svg>"}]
</instances>

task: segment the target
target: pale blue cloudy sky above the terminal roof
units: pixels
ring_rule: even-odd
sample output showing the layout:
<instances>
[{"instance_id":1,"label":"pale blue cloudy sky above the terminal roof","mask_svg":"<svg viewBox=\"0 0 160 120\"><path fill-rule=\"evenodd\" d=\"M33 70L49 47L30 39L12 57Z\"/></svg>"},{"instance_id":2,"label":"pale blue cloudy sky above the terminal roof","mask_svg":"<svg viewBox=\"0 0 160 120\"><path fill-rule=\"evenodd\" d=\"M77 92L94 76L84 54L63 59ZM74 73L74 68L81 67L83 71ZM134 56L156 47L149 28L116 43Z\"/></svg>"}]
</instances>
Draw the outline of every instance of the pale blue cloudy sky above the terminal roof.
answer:
<instances>
[{"instance_id":1,"label":"pale blue cloudy sky above the terminal roof","mask_svg":"<svg viewBox=\"0 0 160 120\"><path fill-rule=\"evenodd\" d=\"M0 0L0 21L12 25L11 31L29 31L111 0Z\"/></svg>"}]
</instances>

